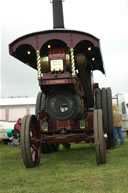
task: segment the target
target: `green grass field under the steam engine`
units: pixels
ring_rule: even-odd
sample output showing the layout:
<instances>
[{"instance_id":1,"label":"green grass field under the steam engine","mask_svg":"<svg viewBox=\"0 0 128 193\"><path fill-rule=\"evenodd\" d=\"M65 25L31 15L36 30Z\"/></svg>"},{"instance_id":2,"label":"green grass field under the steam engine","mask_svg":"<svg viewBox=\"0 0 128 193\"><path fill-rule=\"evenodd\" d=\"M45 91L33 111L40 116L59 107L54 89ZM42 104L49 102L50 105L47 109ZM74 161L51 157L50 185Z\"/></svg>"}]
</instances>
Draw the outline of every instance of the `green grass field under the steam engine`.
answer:
<instances>
[{"instance_id":1,"label":"green grass field under the steam engine","mask_svg":"<svg viewBox=\"0 0 128 193\"><path fill-rule=\"evenodd\" d=\"M94 147L42 154L38 167L26 169L19 147L0 144L0 193L128 193L128 140L107 151L96 165Z\"/></svg>"}]
</instances>

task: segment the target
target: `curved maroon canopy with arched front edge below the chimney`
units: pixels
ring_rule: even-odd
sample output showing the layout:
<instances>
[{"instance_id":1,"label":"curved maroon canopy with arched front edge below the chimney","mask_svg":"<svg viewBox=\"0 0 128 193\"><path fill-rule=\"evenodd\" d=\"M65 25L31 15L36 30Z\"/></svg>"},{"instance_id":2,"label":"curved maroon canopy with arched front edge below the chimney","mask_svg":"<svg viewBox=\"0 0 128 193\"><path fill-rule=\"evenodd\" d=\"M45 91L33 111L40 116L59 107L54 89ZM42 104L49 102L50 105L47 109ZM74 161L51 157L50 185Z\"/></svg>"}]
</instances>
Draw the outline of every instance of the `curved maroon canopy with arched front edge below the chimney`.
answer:
<instances>
[{"instance_id":1,"label":"curved maroon canopy with arched front edge below the chimney","mask_svg":"<svg viewBox=\"0 0 128 193\"><path fill-rule=\"evenodd\" d=\"M35 63L29 63L27 60L24 61L22 57L18 58L16 51L20 46L27 45L28 49L30 46L33 49L33 51L36 52L36 50L41 50L43 45L50 40L61 40L69 48L76 48L79 43L83 41L87 41L91 46L94 47L93 54L97 56L97 60L98 60L98 62L95 63L95 66L93 66L93 70L100 70L103 73L105 73L103 62L102 62L102 56L100 52L99 39L85 32L65 30L65 29L55 29L55 30L28 34L12 42L9 45L9 53L15 58L26 63L27 65L30 65L32 68L37 69L36 58L34 58ZM33 53L33 56L35 57L35 53Z\"/></svg>"}]
</instances>

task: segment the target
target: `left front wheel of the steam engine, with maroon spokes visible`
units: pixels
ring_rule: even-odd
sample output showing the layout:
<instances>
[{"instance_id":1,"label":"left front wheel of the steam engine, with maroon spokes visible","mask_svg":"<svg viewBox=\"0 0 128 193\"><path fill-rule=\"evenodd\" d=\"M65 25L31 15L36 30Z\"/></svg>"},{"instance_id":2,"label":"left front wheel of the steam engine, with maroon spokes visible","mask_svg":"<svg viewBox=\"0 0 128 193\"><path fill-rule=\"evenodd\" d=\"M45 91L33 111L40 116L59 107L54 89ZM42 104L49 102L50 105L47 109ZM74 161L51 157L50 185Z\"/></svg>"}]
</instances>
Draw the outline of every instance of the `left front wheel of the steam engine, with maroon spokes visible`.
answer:
<instances>
[{"instance_id":1,"label":"left front wheel of the steam engine, with maroon spokes visible","mask_svg":"<svg viewBox=\"0 0 128 193\"><path fill-rule=\"evenodd\" d=\"M21 151L26 168L40 163L40 130L35 115L26 115L21 125Z\"/></svg>"}]
</instances>

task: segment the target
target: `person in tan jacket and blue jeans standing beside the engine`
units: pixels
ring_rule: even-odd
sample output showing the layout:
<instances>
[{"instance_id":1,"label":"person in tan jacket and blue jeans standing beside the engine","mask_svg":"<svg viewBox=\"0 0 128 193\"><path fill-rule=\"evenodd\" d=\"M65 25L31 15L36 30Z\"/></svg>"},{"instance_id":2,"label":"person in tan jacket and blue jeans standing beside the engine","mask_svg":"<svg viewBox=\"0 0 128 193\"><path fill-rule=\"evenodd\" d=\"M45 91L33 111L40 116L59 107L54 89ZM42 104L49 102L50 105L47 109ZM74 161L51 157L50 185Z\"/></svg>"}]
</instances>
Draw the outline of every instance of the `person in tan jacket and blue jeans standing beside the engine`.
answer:
<instances>
[{"instance_id":1,"label":"person in tan jacket and blue jeans standing beside the engine","mask_svg":"<svg viewBox=\"0 0 128 193\"><path fill-rule=\"evenodd\" d=\"M119 112L119 108L116 104L113 105L113 126L115 132L115 145L118 144L118 135L121 144L124 144L124 136L122 132L122 114Z\"/></svg>"}]
</instances>

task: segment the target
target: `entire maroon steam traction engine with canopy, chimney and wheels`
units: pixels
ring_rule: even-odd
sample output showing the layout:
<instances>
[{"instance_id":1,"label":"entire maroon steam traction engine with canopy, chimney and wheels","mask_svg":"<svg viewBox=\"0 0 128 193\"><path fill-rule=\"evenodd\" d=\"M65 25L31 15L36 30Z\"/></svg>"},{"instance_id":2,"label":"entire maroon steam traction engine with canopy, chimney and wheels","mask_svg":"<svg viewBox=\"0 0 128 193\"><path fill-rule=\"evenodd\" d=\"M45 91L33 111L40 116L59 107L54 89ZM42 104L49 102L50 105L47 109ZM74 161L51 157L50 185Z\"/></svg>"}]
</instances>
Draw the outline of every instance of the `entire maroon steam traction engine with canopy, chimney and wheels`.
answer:
<instances>
[{"instance_id":1,"label":"entire maroon steam traction engine with canopy, chimney and wheels","mask_svg":"<svg viewBox=\"0 0 128 193\"><path fill-rule=\"evenodd\" d=\"M41 153L59 144L94 143L97 164L106 163L106 148L114 148L111 88L99 88L92 72L105 74L100 40L64 28L62 0L53 0L53 30L31 33L9 45L10 55L37 70L40 92L35 115L21 126L21 150L26 168L40 163Z\"/></svg>"}]
</instances>

